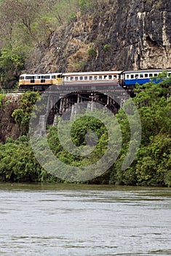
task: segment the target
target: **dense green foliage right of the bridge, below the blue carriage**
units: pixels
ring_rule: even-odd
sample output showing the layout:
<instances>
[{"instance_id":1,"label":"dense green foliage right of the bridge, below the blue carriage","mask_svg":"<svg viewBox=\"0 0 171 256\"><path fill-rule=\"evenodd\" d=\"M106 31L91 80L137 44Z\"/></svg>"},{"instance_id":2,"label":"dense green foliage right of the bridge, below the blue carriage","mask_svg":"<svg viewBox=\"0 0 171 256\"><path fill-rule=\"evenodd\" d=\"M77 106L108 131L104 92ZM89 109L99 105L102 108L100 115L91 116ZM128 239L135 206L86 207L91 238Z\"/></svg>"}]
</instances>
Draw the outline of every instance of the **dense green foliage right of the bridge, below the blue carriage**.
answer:
<instances>
[{"instance_id":1,"label":"dense green foliage right of the bridge, below the blue carriage","mask_svg":"<svg viewBox=\"0 0 171 256\"><path fill-rule=\"evenodd\" d=\"M165 78L166 73L159 75ZM111 184L140 186L170 186L171 158L171 97L170 78L161 83L137 85L137 96L133 99L137 105L141 126L142 140L137 157L132 165L122 171L122 162L127 154L130 130L127 117L122 110L117 114L122 127L123 146L119 159L111 171Z\"/></svg>"}]
</instances>

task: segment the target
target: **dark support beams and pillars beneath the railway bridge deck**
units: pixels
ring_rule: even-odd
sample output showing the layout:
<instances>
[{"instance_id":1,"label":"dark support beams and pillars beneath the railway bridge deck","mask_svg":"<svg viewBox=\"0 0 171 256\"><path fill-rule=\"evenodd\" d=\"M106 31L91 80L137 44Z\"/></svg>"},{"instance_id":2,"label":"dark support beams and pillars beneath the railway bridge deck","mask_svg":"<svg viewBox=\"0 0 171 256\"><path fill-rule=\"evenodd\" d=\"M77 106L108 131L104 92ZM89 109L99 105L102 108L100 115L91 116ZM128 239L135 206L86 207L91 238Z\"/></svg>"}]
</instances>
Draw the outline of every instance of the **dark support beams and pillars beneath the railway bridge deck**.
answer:
<instances>
[{"instance_id":1,"label":"dark support beams and pillars beneath the railway bridge deck","mask_svg":"<svg viewBox=\"0 0 171 256\"><path fill-rule=\"evenodd\" d=\"M124 100L127 99L127 95L123 94L123 90L120 92L119 89L115 89L115 91L116 94L110 89L106 89L106 91L104 89L102 91L80 91L80 89L77 91L55 91L55 94L50 92L47 95L47 110L51 110L49 113L45 113L48 116L47 124L56 125L58 116L62 116L63 114L66 119L74 118L76 116L76 109L80 108L80 102L87 102L91 108L93 105L91 102L98 102L116 114ZM114 95L116 100L114 99ZM55 102L55 105L53 105L53 102ZM39 124L42 125L42 133L46 132L46 127L44 127L43 123L43 117L40 116Z\"/></svg>"}]
</instances>

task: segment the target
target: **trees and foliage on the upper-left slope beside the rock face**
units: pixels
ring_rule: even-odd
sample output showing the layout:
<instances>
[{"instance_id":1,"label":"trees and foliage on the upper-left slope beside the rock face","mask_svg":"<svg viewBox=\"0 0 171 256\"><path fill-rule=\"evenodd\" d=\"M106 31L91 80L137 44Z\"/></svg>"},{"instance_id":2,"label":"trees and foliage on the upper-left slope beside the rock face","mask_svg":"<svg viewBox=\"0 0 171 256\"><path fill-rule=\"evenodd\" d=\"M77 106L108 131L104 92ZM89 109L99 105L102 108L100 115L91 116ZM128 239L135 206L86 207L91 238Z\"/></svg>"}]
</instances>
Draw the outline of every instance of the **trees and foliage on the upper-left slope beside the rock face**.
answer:
<instances>
[{"instance_id":1,"label":"trees and foliage on the upper-left slope beside the rock face","mask_svg":"<svg viewBox=\"0 0 171 256\"><path fill-rule=\"evenodd\" d=\"M49 34L68 23L79 10L79 0L3 0L0 2L0 75L4 87L17 83L25 59Z\"/></svg>"}]
</instances>

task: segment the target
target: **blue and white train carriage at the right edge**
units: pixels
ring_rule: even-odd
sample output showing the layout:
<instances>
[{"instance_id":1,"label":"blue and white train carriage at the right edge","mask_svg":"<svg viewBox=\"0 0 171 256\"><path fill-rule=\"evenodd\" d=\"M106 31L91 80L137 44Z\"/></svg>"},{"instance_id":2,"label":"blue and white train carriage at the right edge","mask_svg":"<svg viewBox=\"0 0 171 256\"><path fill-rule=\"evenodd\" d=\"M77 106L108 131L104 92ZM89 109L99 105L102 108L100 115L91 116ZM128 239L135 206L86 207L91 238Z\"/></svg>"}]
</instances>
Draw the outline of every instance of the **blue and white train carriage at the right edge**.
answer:
<instances>
[{"instance_id":1,"label":"blue and white train carriage at the right edge","mask_svg":"<svg viewBox=\"0 0 171 256\"><path fill-rule=\"evenodd\" d=\"M161 82L160 79L156 79L158 75L162 72L167 72L167 77L171 75L171 69L145 69L145 70L131 70L131 71L124 71L124 87L125 89L129 89L135 87L136 83L143 85L144 83L149 83L154 81L155 83Z\"/></svg>"}]
</instances>

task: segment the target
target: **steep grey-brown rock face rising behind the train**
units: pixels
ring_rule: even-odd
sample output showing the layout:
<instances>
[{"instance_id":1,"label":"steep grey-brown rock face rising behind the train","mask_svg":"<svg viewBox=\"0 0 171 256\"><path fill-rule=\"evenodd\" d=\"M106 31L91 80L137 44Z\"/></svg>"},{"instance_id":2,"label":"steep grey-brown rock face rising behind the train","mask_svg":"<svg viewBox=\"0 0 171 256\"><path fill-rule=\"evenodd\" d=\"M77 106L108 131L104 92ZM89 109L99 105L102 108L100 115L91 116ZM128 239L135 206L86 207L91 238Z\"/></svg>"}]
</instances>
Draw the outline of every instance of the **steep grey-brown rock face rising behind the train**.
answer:
<instances>
[{"instance_id":1,"label":"steep grey-brown rock face rising behind the train","mask_svg":"<svg viewBox=\"0 0 171 256\"><path fill-rule=\"evenodd\" d=\"M27 72L171 67L170 0L105 0L31 54Z\"/></svg>"}]
</instances>

